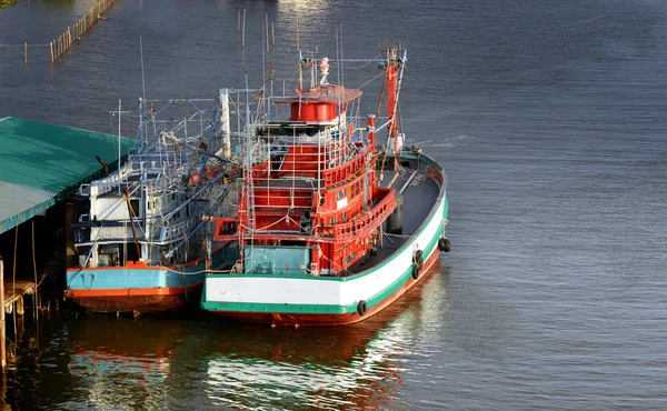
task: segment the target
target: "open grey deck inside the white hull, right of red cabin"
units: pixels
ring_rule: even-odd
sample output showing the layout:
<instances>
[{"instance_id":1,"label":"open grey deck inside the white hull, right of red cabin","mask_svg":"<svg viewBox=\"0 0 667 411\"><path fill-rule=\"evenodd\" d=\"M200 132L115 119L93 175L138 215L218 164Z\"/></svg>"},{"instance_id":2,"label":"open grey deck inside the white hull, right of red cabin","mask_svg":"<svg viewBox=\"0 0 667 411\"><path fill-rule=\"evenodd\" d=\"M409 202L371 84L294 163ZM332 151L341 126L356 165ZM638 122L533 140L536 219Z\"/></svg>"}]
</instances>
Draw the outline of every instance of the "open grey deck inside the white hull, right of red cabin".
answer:
<instances>
[{"instance_id":1,"label":"open grey deck inside the white hull, right of red cabin","mask_svg":"<svg viewBox=\"0 0 667 411\"><path fill-rule=\"evenodd\" d=\"M434 208L436 200L438 199L438 193L440 192L440 187L431 177L428 177L424 173L417 173L412 179L410 179L410 174L414 170L408 170L407 172L402 172L394 184L391 186L395 190L397 190L397 194L404 189L402 197L402 233L389 234L382 230L384 235L381 240L381 247L377 247L378 252L375 255L370 255L366 260L361 260L350 268L350 272L358 273L365 270L372 268L374 265L382 262L387 257L389 257L394 251L398 250L405 242L406 239L414 234L424 220L426 220L428 213ZM382 187L389 184L392 181L397 171L385 171L385 176L382 179Z\"/></svg>"}]
</instances>

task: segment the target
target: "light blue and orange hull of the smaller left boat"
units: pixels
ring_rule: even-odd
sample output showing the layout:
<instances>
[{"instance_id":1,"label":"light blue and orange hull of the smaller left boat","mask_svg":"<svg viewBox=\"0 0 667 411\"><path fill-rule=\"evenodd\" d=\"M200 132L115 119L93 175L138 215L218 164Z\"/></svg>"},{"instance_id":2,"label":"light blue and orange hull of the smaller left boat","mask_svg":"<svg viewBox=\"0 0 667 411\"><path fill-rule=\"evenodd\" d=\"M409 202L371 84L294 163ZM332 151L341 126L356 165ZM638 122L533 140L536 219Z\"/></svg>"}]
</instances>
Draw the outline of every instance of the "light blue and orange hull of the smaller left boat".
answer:
<instances>
[{"instance_id":1,"label":"light blue and orange hull of the smaller left boat","mask_svg":"<svg viewBox=\"0 0 667 411\"><path fill-rule=\"evenodd\" d=\"M222 263L227 252L216 250L213 267ZM69 269L64 297L90 312L170 311L200 301L205 269L203 258L177 267Z\"/></svg>"}]
</instances>

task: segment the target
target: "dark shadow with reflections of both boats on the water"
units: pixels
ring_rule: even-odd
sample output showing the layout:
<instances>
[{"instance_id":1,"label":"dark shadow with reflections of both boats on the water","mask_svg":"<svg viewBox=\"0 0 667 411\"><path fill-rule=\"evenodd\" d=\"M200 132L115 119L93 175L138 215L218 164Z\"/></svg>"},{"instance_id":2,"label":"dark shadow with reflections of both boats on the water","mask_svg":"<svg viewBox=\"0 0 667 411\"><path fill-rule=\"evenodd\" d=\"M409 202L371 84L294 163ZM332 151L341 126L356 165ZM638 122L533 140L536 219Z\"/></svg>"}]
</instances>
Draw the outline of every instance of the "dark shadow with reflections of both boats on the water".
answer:
<instances>
[{"instance_id":1,"label":"dark shadow with reflections of both boats on the water","mask_svg":"<svg viewBox=\"0 0 667 411\"><path fill-rule=\"evenodd\" d=\"M446 302L438 271L436 264L395 304L348 327L272 329L198 311L58 313L39 344L30 339L31 348L20 348L22 372L10 372L7 402L67 410L386 407L399 395L401 355L424 337L428 311Z\"/></svg>"}]
</instances>

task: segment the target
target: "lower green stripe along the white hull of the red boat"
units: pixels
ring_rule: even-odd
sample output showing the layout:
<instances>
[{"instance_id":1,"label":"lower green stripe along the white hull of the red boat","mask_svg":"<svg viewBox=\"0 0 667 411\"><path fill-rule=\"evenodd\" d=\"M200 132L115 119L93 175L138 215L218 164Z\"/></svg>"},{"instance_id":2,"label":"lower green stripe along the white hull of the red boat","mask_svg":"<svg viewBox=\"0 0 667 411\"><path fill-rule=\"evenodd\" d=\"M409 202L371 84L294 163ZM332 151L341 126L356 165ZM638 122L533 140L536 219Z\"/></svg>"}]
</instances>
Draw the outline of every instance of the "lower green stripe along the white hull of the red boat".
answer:
<instances>
[{"instance_id":1,"label":"lower green stripe along the white hull of the red boat","mask_svg":"<svg viewBox=\"0 0 667 411\"><path fill-rule=\"evenodd\" d=\"M438 247L438 240L442 233L442 228L438 230L438 235L429 242L426 248L426 255L430 255L434 248ZM390 262L390 261L389 261ZM406 281L412 278L412 265L410 265L391 285L380 291L378 294L366 300L368 308L371 308L389 295L395 293ZM201 308L208 311L241 311L241 312L275 312L281 314L347 314L357 311L357 303L348 305L336 304L289 304L289 303L261 303L261 302L209 302L206 301L206 288L203 290Z\"/></svg>"}]
</instances>

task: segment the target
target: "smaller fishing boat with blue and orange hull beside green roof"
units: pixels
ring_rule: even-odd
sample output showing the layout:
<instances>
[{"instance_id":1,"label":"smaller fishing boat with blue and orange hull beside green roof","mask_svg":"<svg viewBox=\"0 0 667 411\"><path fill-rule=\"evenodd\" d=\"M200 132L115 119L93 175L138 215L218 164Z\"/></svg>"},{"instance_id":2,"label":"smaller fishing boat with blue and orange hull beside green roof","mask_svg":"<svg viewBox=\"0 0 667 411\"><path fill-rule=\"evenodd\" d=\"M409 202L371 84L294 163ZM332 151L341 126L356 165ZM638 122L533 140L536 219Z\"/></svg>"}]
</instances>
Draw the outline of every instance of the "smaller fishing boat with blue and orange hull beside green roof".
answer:
<instances>
[{"instance_id":1,"label":"smaller fishing boat with blue and orange hull beside green roof","mask_svg":"<svg viewBox=\"0 0 667 411\"><path fill-rule=\"evenodd\" d=\"M71 224L78 263L67 270L64 297L87 311L159 312L198 303L207 263L236 261L210 240L201 220L229 193L219 100L140 99L139 106L136 151L117 171L79 189L79 218ZM119 107L119 136L120 114ZM120 163L120 149L116 156Z\"/></svg>"}]
</instances>

